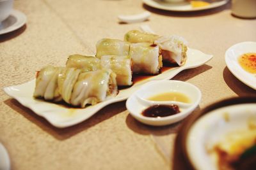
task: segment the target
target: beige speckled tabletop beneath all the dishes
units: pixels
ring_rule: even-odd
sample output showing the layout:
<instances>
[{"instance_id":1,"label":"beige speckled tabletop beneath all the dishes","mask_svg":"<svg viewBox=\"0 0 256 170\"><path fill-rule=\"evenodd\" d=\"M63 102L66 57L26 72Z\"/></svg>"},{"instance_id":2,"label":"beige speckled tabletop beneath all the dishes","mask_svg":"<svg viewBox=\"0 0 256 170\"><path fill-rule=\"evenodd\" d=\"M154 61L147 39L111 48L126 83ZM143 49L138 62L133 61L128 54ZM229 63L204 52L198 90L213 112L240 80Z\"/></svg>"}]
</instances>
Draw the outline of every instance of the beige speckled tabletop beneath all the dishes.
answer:
<instances>
[{"instance_id":1,"label":"beige speckled tabletop beneath all the dishes","mask_svg":"<svg viewBox=\"0 0 256 170\"><path fill-rule=\"evenodd\" d=\"M95 53L101 38L122 39L125 32L149 25L157 34L178 34L191 48L214 55L204 66L182 71L173 80L202 91L200 108L234 96L256 96L228 71L225 51L242 41L256 41L256 20L230 15L230 4L195 13L150 8L136 0L17 0L28 17L21 29L0 36L0 142L12 169L172 169L173 142L180 124L150 127L111 104L81 124L58 129L7 96L3 88L35 77L47 64L64 66L68 55ZM117 15L142 11L149 20L121 24Z\"/></svg>"}]
</instances>

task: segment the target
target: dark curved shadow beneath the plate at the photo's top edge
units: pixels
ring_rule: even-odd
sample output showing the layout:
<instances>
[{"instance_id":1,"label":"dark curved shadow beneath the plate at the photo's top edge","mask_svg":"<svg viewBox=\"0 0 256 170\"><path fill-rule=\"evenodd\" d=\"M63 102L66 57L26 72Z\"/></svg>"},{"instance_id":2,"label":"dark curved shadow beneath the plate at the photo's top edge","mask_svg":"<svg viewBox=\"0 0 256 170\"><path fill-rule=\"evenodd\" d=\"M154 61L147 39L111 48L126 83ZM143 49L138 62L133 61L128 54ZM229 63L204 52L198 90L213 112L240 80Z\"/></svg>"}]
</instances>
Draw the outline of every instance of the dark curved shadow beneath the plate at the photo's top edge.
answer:
<instances>
[{"instance_id":1,"label":"dark curved shadow beneath the plate at the photo's top edge","mask_svg":"<svg viewBox=\"0 0 256 170\"><path fill-rule=\"evenodd\" d=\"M205 15L212 15L214 13L218 13L223 10L228 10L231 8L231 3L227 3L223 6L220 6L218 8L212 8L208 10L199 10L199 11L168 11L168 10L160 10L157 8L152 8L151 6L148 6L147 4L143 4L143 8L147 11L150 11L152 13L157 13L159 15L166 15L170 17L201 17Z\"/></svg>"}]
</instances>

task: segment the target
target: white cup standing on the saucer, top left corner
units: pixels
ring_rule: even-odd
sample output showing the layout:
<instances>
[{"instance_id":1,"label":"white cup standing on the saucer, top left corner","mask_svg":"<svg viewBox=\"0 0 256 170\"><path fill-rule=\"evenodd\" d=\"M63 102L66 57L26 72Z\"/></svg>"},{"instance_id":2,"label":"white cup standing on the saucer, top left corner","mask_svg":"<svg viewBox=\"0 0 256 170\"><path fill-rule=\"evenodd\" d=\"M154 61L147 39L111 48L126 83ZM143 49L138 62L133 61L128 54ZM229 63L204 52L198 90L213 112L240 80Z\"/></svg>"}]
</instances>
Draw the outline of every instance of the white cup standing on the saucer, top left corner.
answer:
<instances>
[{"instance_id":1,"label":"white cup standing on the saucer, top left corner","mask_svg":"<svg viewBox=\"0 0 256 170\"><path fill-rule=\"evenodd\" d=\"M0 0L0 24L12 12L13 0Z\"/></svg>"}]
</instances>

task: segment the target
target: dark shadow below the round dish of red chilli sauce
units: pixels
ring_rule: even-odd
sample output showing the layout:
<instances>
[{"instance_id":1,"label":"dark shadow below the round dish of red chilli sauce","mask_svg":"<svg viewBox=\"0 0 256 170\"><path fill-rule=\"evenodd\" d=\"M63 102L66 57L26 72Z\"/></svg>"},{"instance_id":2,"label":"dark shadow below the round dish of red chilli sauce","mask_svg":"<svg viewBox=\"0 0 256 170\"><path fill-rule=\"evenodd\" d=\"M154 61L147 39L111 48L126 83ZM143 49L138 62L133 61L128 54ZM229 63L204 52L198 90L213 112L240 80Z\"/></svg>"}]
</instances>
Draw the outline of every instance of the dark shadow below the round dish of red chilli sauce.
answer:
<instances>
[{"instance_id":1,"label":"dark shadow below the round dish of red chilli sauce","mask_svg":"<svg viewBox=\"0 0 256 170\"><path fill-rule=\"evenodd\" d=\"M228 69L225 67L223 70L223 78L227 83L228 87L233 90L238 96L256 96L256 90L245 85L243 82L238 80Z\"/></svg>"}]
</instances>

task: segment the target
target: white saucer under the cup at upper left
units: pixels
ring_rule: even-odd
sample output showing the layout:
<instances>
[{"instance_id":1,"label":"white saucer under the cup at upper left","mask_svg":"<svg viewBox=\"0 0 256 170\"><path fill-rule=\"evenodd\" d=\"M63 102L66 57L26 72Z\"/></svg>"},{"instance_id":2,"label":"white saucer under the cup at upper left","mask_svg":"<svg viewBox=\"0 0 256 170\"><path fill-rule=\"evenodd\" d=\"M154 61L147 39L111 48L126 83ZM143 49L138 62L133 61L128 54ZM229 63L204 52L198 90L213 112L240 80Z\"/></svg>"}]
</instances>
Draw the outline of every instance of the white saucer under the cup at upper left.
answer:
<instances>
[{"instance_id":1,"label":"white saucer under the cup at upper left","mask_svg":"<svg viewBox=\"0 0 256 170\"><path fill-rule=\"evenodd\" d=\"M0 35L15 31L26 24L26 22L27 17L24 15L24 13L17 10L12 10L10 16L0 24Z\"/></svg>"}]
</instances>

